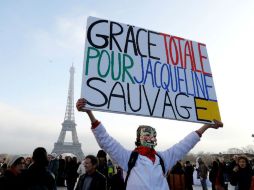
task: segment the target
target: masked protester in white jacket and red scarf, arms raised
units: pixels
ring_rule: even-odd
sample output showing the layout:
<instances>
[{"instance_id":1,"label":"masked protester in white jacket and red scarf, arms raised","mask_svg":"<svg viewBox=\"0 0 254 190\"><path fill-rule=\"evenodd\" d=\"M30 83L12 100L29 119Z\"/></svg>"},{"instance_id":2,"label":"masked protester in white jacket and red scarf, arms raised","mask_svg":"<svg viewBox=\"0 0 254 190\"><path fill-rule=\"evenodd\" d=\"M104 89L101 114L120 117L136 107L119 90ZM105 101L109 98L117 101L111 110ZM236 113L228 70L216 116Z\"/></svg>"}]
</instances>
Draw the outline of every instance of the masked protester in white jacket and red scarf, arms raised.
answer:
<instances>
[{"instance_id":1,"label":"masked protester in white jacket and red scarf, arms raised","mask_svg":"<svg viewBox=\"0 0 254 190\"><path fill-rule=\"evenodd\" d=\"M214 120L214 124L204 124L169 149L157 152L154 149L157 145L156 130L141 125L137 129L135 142L137 147L131 151L125 149L107 133L93 112L85 108L86 103L85 99L79 99L76 103L77 110L87 113L99 146L127 172L125 179L127 190L169 190L166 172L196 145L207 129L218 129L223 126L222 122Z\"/></svg>"}]
</instances>

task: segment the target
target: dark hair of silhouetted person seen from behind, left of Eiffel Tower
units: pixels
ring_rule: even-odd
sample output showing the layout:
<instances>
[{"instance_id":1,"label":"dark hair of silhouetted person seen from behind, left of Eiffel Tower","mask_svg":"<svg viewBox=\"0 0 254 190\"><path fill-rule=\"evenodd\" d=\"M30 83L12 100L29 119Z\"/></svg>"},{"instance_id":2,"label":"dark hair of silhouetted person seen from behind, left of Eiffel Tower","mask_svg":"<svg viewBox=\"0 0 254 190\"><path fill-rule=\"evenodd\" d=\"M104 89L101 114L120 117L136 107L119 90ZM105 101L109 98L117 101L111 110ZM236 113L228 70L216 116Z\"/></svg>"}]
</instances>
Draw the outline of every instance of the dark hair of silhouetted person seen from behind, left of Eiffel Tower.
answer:
<instances>
[{"instance_id":1,"label":"dark hair of silhouetted person seen from behind, left of Eiffel Tower","mask_svg":"<svg viewBox=\"0 0 254 190\"><path fill-rule=\"evenodd\" d=\"M47 151L43 147L38 147L34 149L33 152L33 161L35 164L40 165L40 166L47 166L48 165L48 156L47 156Z\"/></svg>"}]
</instances>

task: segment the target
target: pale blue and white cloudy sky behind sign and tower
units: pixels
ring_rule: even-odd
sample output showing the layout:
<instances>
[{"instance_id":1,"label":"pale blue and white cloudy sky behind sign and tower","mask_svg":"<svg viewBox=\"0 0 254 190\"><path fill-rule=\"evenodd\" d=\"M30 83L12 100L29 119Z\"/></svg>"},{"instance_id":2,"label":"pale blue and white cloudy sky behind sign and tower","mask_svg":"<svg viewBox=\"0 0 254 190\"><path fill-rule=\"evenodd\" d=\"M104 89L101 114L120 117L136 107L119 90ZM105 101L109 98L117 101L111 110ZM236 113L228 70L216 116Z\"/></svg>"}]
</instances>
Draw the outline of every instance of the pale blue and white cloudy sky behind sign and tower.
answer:
<instances>
[{"instance_id":1,"label":"pale blue and white cloudy sky behind sign and tower","mask_svg":"<svg viewBox=\"0 0 254 190\"><path fill-rule=\"evenodd\" d=\"M69 68L81 94L88 16L135 25L206 44L224 128L209 129L193 153L253 145L254 2L0 1L0 153L51 152L64 120ZM149 124L164 150L202 124L95 112L108 132L133 149L136 128ZM85 154L99 149L84 113L75 111ZM67 134L66 141L70 141Z\"/></svg>"}]
</instances>

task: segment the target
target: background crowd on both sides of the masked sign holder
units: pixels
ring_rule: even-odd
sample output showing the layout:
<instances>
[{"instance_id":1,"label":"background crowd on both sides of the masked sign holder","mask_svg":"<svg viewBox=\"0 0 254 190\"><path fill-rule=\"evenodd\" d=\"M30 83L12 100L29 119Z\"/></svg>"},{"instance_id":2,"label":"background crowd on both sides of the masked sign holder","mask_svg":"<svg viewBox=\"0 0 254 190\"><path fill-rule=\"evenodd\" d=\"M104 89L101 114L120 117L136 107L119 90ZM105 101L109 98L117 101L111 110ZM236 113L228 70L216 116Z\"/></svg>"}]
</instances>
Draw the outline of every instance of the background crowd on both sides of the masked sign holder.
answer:
<instances>
[{"instance_id":1,"label":"background crowd on both sides of the masked sign holder","mask_svg":"<svg viewBox=\"0 0 254 190\"><path fill-rule=\"evenodd\" d=\"M87 155L84 160L76 157L47 154L38 147L33 156L8 156L0 160L0 189L48 189L66 187L67 190L124 190L126 173L113 164L107 153L99 150L97 155ZM223 157L212 162L177 161L166 173L171 190L193 190L194 172L203 190L208 182L212 190L253 190L254 160L234 155L230 160Z\"/></svg>"}]
</instances>

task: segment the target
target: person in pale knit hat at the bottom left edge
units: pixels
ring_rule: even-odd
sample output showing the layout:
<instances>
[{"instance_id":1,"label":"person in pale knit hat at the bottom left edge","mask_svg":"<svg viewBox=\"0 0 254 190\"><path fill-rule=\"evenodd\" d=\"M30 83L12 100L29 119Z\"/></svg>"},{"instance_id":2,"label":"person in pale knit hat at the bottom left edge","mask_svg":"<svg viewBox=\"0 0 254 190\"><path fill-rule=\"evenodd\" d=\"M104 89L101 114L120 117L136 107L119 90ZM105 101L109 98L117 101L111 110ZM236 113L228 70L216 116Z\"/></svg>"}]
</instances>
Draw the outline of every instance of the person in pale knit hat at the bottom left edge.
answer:
<instances>
[{"instance_id":1,"label":"person in pale knit hat at the bottom left edge","mask_svg":"<svg viewBox=\"0 0 254 190\"><path fill-rule=\"evenodd\" d=\"M25 184L22 178L22 171L25 169L25 159L22 156L9 158L7 169L0 177L1 190L24 190Z\"/></svg>"}]
</instances>

